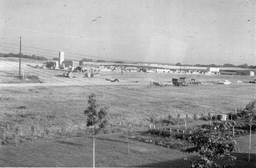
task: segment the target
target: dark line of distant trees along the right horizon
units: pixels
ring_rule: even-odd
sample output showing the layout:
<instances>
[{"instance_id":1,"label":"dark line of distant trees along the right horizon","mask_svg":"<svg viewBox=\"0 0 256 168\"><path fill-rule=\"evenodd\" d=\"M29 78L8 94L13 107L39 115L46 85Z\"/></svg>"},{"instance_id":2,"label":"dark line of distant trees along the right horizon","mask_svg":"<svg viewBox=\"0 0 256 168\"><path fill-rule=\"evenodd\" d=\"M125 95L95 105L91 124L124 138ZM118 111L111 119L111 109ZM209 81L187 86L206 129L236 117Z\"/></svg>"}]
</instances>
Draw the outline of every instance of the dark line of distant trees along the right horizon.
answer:
<instances>
[{"instance_id":1,"label":"dark line of distant trees along the right horizon","mask_svg":"<svg viewBox=\"0 0 256 168\"><path fill-rule=\"evenodd\" d=\"M202 66L202 67L239 67L239 68L250 68L250 69L256 69L256 65L248 65L247 63L242 64L242 65L233 65L229 63L225 63L223 65L216 65L216 64L195 64L195 65L190 65L190 64L184 64L182 65L180 62L176 64L176 66Z\"/></svg>"}]
</instances>

